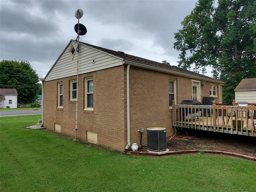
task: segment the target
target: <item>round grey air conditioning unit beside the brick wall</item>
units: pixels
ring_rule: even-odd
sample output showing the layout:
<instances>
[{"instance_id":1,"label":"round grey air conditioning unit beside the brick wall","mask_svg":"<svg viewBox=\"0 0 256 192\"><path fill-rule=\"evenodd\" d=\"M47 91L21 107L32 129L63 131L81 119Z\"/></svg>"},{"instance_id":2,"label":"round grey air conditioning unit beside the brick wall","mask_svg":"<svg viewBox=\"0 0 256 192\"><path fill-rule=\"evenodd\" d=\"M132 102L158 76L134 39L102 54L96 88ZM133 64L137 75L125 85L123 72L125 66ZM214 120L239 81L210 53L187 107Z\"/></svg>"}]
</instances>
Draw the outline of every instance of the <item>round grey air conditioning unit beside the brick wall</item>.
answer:
<instances>
[{"instance_id":1,"label":"round grey air conditioning unit beside the brick wall","mask_svg":"<svg viewBox=\"0 0 256 192\"><path fill-rule=\"evenodd\" d=\"M166 128L147 128L147 146L151 151L164 151L167 147Z\"/></svg>"}]
</instances>

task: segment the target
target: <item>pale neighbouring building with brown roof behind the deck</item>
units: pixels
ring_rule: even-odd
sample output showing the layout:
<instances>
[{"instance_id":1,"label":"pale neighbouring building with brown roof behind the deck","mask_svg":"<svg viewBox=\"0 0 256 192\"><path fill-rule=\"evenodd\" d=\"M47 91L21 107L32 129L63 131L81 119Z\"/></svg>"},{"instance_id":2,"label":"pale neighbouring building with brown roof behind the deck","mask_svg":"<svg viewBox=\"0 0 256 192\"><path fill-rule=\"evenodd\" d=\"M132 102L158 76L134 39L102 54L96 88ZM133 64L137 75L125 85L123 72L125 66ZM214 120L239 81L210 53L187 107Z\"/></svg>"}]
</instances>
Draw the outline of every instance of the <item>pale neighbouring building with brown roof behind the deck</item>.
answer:
<instances>
[{"instance_id":1,"label":"pale neighbouring building with brown roof behind the deck","mask_svg":"<svg viewBox=\"0 0 256 192\"><path fill-rule=\"evenodd\" d=\"M235 100L256 104L256 78L243 79L235 88Z\"/></svg>"}]
</instances>

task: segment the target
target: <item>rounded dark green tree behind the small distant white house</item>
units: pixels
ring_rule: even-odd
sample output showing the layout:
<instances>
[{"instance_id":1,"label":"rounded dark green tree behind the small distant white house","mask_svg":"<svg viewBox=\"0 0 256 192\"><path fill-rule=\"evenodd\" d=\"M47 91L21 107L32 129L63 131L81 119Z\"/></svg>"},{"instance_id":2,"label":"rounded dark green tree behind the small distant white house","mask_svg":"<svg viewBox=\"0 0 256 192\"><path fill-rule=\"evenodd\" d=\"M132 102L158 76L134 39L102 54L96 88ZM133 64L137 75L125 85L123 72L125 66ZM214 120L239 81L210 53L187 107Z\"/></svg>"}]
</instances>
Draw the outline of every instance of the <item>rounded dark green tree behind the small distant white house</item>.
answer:
<instances>
[{"instance_id":1,"label":"rounded dark green tree behind the small distant white house","mask_svg":"<svg viewBox=\"0 0 256 192\"><path fill-rule=\"evenodd\" d=\"M38 74L29 62L2 60L0 71L0 88L16 88L18 103L35 102L40 85Z\"/></svg>"}]
</instances>

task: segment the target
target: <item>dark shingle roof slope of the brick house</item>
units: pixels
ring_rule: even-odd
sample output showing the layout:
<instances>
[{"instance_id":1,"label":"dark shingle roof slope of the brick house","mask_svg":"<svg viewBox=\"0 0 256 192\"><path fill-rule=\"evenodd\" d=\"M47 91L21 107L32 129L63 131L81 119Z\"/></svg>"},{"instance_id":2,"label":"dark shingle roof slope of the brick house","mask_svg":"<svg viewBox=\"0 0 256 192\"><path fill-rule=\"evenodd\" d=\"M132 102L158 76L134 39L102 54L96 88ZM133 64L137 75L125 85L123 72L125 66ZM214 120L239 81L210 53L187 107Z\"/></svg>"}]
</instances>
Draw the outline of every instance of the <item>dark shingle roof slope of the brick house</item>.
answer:
<instances>
[{"instance_id":1,"label":"dark shingle roof slope of the brick house","mask_svg":"<svg viewBox=\"0 0 256 192\"><path fill-rule=\"evenodd\" d=\"M140 64L145 64L145 65L148 65L148 66L159 67L159 68L162 68L162 69L166 69L166 70L170 70L170 71L175 71L175 72L181 72L181 73L185 73L185 74L189 74L189 75L198 76L198 77L201 77L201 78L208 78L209 80L216 80L214 78L211 78L211 77L208 77L208 76L205 76L205 75L202 75L202 74L198 74L198 73L192 72L190 70L179 68L177 66L163 64L163 63L160 63L160 62L156 62L156 61L144 59L144 58L141 58L141 57L129 55L129 54L126 54L124 52L113 51L113 50L109 50L109 49L106 49L106 48L90 45L90 44L83 43L83 42L80 42L80 43L84 44L86 46L90 46L92 48L101 50L101 51L106 52L108 54L112 54L114 56L117 56L119 58L124 59L125 61L136 62L136 63L140 63Z\"/></svg>"}]
</instances>

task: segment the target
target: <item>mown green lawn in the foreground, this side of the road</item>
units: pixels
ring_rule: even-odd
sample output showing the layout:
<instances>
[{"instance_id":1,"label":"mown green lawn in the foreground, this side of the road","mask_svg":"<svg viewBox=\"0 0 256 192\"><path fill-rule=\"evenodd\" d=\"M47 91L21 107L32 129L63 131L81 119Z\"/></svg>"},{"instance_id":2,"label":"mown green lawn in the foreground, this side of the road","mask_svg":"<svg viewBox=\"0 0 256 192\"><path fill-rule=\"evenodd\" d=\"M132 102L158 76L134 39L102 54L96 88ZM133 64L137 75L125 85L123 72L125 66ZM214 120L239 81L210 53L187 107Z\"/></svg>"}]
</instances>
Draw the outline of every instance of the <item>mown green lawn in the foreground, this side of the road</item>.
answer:
<instances>
[{"instance_id":1,"label":"mown green lawn in the foreground, this side of the road","mask_svg":"<svg viewBox=\"0 0 256 192\"><path fill-rule=\"evenodd\" d=\"M40 115L0 117L0 191L252 192L256 163L223 155L132 156L29 130Z\"/></svg>"}]
</instances>

